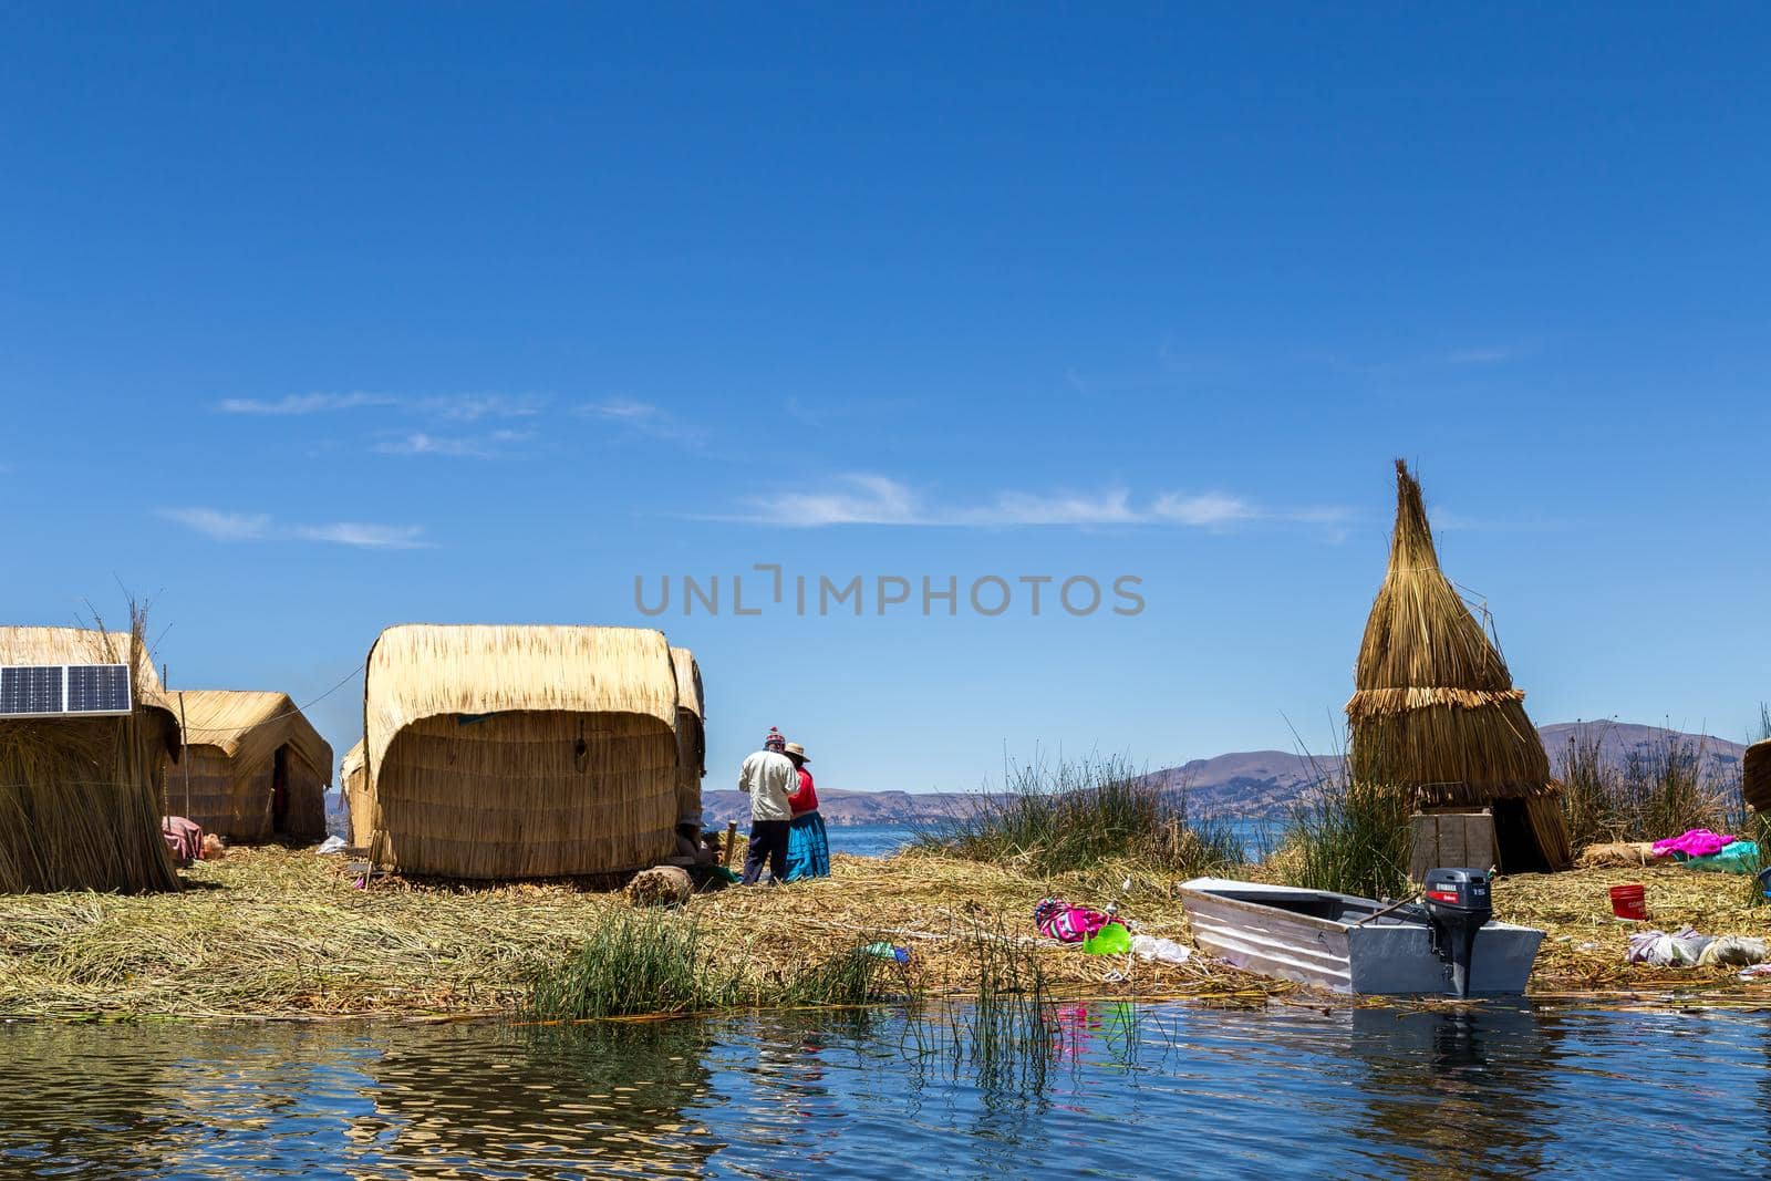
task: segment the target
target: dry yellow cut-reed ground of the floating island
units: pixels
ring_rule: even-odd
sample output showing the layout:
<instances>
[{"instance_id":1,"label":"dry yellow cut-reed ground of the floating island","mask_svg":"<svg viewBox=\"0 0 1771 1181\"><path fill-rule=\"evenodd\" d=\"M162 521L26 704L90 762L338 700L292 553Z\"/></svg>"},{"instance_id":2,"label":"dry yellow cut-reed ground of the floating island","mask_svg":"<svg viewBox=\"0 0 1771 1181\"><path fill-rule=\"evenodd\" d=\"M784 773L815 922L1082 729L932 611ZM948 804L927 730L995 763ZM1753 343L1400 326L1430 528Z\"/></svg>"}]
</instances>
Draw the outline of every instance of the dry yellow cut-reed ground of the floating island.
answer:
<instances>
[{"instance_id":1,"label":"dry yellow cut-reed ground of the floating island","mask_svg":"<svg viewBox=\"0 0 1771 1181\"><path fill-rule=\"evenodd\" d=\"M1036 938L1048 894L1118 899L1151 935L1190 942L1172 882L1132 864L1027 876L924 852L836 855L834 876L777 889L696 894L677 912L634 912L618 892L535 882L462 885L381 878L367 889L342 857L241 848L184 871L172 894L0 896L0 1016L156 1020L345 1016L450 1018L521 1013L537 970L560 963L615 915L692 922L710 965L744 981L740 1004L783 1004L806 963L887 940L910 949L882 988L967 997L979 937L1036 958L1052 995L1192 999L1201 1004L1373 1004L1238 972L1204 956L1155 965L1089 956ZM1130 878L1130 889L1123 889ZM1744 878L1674 866L1504 876L1498 919L1548 931L1532 997L1571 1004L1771 1007L1771 981L1734 969L1628 965L1631 924L1608 887L1647 885L1651 924L1755 935L1766 910ZM1440 1004L1440 1002L1433 1002Z\"/></svg>"}]
</instances>

